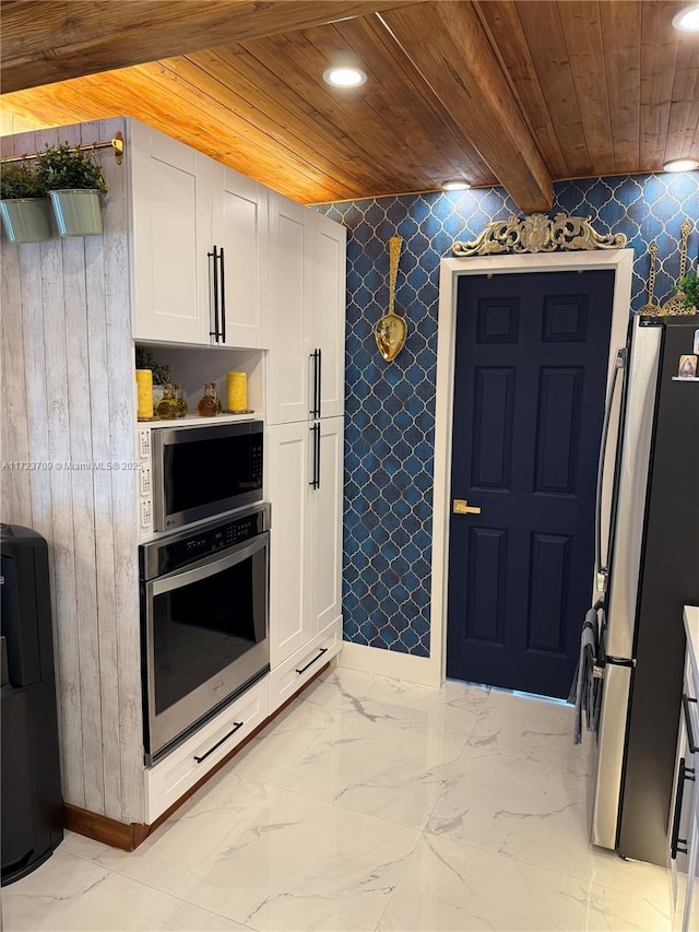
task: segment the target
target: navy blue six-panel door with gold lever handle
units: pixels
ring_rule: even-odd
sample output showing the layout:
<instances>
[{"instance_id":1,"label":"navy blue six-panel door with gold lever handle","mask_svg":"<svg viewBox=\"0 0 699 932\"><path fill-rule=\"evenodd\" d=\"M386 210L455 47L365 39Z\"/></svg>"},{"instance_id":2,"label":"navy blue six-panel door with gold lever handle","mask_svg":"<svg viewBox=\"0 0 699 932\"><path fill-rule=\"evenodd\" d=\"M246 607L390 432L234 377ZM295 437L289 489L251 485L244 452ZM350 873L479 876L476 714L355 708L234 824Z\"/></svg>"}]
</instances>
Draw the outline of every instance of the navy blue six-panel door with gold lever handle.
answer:
<instances>
[{"instance_id":1,"label":"navy blue six-panel door with gold lever handle","mask_svg":"<svg viewBox=\"0 0 699 932\"><path fill-rule=\"evenodd\" d=\"M568 695L592 598L613 293L613 271L459 281L450 677Z\"/></svg>"}]
</instances>

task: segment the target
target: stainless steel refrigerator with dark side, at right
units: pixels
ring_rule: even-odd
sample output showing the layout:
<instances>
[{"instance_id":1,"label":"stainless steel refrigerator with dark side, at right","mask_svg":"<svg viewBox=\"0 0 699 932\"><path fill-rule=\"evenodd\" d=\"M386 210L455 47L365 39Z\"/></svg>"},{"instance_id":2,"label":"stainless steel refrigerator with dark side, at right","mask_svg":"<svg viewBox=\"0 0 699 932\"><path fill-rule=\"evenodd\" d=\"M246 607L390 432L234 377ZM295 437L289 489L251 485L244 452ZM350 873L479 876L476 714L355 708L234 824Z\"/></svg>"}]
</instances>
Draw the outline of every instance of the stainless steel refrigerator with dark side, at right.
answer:
<instances>
[{"instance_id":1,"label":"stainless steel refrigerator with dark side, at right","mask_svg":"<svg viewBox=\"0 0 699 932\"><path fill-rule=\"evenodd\" d=\"M655 864L666 861L683 605L699 604L699 380L690 377L698 334L699 316L630 322L618 354L623 401L602 557L591 840ZM690 359L680 378L683 356Z\"/></svg>"}]
</instances>

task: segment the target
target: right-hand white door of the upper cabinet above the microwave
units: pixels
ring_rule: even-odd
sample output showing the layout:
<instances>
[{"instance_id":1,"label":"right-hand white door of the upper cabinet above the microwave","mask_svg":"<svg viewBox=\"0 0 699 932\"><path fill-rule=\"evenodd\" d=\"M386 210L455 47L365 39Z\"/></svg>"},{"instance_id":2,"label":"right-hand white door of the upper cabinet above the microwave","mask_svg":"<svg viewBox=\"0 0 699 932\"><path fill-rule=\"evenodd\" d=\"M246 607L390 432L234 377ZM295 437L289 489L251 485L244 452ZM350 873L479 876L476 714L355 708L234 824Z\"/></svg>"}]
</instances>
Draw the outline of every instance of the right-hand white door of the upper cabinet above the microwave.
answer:
<instances>
[{"instance_id":1,"label":"right-hand white door of the upper cabinet above the microwave","mask_svg":"<svg viewBox=\"0 0 699 932\"><path fill-rule=\"evenodd\" d=\"M228 346L266 347L269 306L268 189L212 165L212 240L224 250L225 339Z\"/></svg>"}]
</instances>

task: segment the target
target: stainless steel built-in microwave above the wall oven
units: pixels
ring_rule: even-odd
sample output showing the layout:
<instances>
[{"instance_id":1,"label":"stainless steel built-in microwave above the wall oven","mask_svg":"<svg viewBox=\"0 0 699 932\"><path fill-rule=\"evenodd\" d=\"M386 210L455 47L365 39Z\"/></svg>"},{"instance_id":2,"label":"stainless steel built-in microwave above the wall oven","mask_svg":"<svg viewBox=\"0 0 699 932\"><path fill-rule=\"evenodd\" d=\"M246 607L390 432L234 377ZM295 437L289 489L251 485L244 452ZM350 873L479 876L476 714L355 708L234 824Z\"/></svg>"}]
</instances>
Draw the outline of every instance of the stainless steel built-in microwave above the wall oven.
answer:
<instances>
[{"instance_id":1,"label":"stainless steel built-in microwave above the wall oven","mask_svg":"<svg viewBox=\"0 0 699 932\"><path fill-rule=\"evenodd\" d=\"M263 425L238 421L152 432L154 530L262 499Z\"/></svg>"}]
</instances>

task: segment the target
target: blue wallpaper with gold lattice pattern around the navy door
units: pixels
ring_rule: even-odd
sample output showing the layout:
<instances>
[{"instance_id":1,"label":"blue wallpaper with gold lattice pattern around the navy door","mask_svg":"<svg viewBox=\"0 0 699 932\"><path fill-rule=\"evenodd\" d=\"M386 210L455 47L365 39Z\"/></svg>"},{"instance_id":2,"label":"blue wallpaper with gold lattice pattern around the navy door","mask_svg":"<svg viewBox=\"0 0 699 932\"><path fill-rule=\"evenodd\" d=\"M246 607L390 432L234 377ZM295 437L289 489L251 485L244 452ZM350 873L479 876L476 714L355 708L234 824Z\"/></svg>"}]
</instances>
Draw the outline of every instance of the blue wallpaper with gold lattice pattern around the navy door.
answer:
<instances>
[{"instance_id":1,"label":"blue wallpaper with gold lattice pattern around the navy door","mask_svg":"<svg viewBox=\"0 0 699 932\"><path fill-rule=\"evenodd\" d=\"M679 227L688 216L689 269L697 268L699 172L561 181L550 212L591 216L601 233L633 247L632 308L647 300L657 240L655 299L672 295ZM454 239L518 214L501 188L405 194L323 204L347 236L347 331L343 613L345 640L429 656L433 464L439 260ZM388 309L388 240L403 248L396 309L408 326L393 363L379 355L374 326Z\"/></svg>"}]
</instances>

